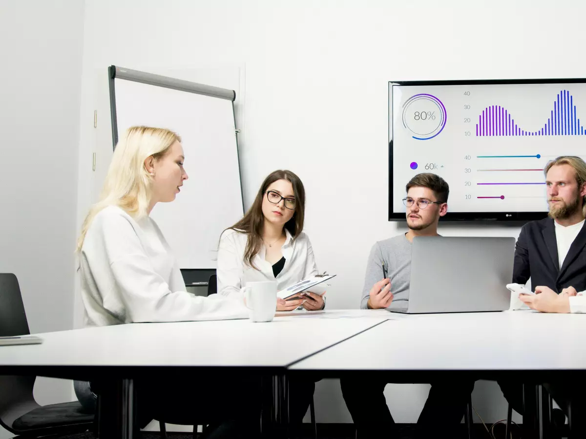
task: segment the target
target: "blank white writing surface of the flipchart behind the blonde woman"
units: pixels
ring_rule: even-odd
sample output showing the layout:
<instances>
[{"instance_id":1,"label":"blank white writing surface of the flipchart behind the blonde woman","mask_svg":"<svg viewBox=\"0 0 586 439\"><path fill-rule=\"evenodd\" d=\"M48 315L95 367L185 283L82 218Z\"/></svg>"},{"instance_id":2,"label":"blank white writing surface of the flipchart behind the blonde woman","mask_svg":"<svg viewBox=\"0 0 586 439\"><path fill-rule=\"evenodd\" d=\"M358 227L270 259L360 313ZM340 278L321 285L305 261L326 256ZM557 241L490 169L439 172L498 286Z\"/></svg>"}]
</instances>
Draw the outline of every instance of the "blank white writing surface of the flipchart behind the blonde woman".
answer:
<instances>
[{"instance_id":1,"label":"blank white writing surface of the flipchart behind the blonde woman","mask_svg":"<svg viewBox=\"0 0 586 439\"><path fill-rule=\"evenodd\" d=\"M243 215L232 101L115 78L118 136L130 126L182 138L189 179L175 201L151 212L181 269L216 268L220 234Z\"/></svg>"}]
</instances>

